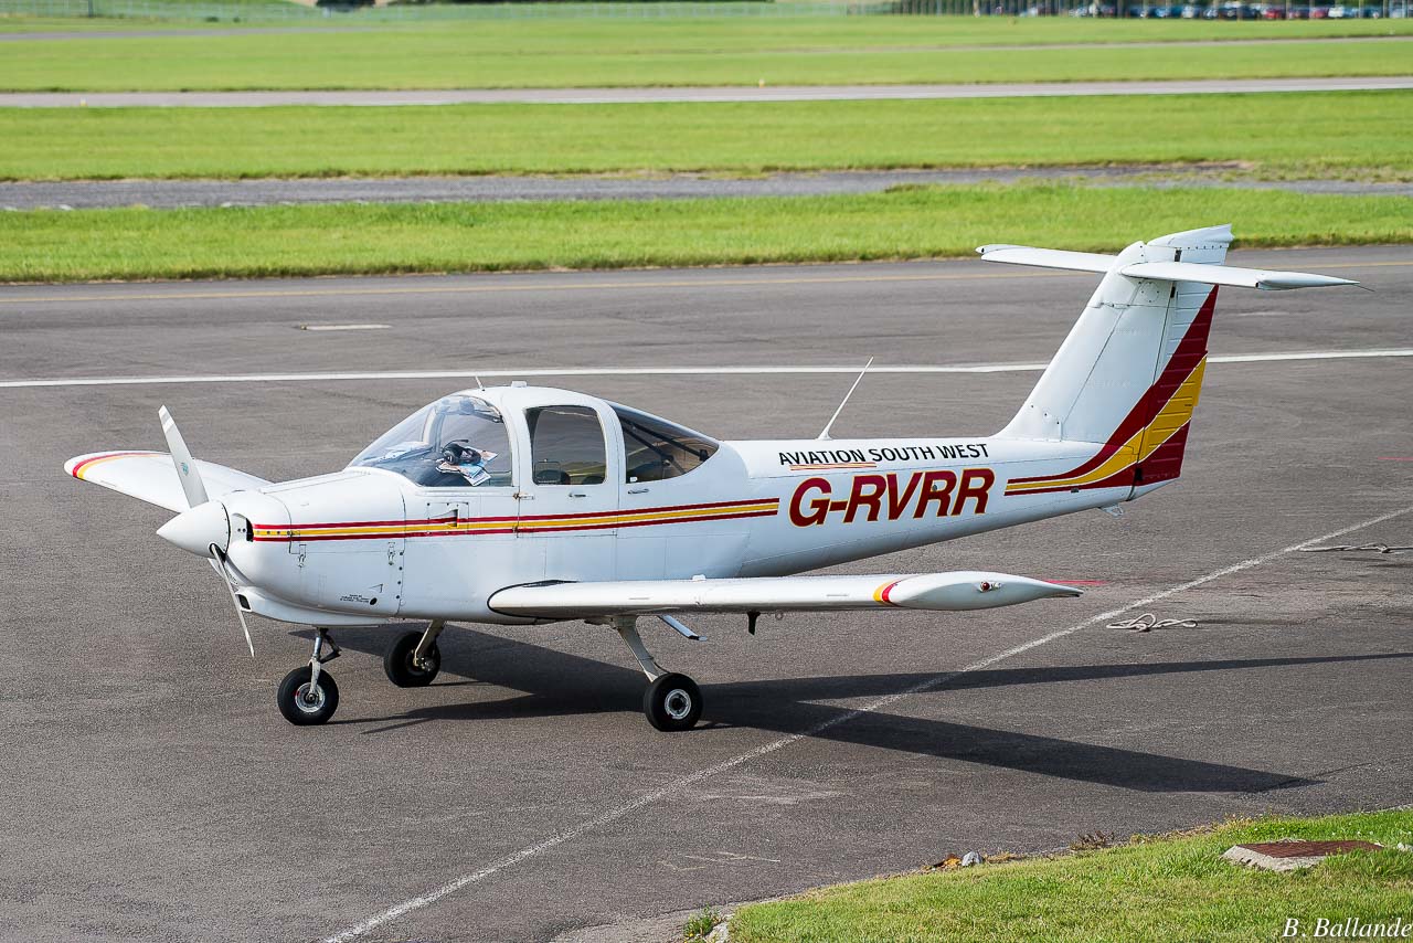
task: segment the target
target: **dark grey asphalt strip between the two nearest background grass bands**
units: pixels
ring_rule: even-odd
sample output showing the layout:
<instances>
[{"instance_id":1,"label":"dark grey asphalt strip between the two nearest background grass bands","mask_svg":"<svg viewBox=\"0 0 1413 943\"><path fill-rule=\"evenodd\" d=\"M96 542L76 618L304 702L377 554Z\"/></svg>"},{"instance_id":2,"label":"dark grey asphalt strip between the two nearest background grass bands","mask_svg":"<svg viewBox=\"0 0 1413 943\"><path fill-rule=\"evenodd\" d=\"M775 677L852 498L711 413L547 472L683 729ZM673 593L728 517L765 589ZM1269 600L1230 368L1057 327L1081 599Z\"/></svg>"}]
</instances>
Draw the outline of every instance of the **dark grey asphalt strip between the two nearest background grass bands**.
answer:
<instances>
[{"instance_id":1,"label":"dark grey asphalt strip between the two nearest background grass bands","mask_svg":"<svg viewBox=\"0 0 1413 943\"><path fill-rule=\"evenodd\" d=\"M109 206L264 206L290 204L445 204L545 199L705 199L827 197L893 187L1084 180L1099 187L1228 187L1299 194L1413 197L1413 182L1231 178L1232 165L1031 167L779 172L731 178L667 175L333 177L259 180L79 180L0 182L0 209Z\"/></svg>"}]
</instances>

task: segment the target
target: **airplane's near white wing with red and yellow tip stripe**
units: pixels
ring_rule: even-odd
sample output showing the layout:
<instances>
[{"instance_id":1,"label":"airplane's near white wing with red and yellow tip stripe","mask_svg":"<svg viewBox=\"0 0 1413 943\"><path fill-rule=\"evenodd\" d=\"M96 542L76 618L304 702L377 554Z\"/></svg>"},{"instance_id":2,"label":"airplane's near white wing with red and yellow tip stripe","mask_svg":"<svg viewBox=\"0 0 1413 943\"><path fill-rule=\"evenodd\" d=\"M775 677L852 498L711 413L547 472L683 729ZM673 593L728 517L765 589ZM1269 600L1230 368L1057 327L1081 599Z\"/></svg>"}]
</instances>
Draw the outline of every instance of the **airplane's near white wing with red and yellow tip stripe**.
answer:
<instances>
[{"instance_id":1,"label":"airplane's near white wing with red and yellow tip stripe","mask_svg":"<svg viewBox=\"0 0 1413 943\"><path fill-rule=\"evenodd\" d=\"M1080 590L1005 573L926 573L869 577L752 577L545 582L507 587L489 605L504 615L584 619L671 612L820 612L835 609L991 609Z\"/></svg>"}]
</instances>

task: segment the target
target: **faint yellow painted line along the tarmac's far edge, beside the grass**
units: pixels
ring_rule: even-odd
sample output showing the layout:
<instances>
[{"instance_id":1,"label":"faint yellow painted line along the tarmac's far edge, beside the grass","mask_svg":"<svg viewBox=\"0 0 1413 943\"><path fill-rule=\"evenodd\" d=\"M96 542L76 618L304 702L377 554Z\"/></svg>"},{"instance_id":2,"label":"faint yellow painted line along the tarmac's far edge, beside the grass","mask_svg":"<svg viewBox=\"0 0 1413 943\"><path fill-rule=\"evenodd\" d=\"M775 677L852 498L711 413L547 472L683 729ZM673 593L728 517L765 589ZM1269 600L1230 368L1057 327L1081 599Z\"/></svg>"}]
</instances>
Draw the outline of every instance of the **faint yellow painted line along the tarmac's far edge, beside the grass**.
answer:
<instances>
[{"instance_id":1,"label":"faint yellow painted line along the tarmac's far edge, beside the grass","mask_svg":"<svg viewBox=\"0 0 1413 943\"><path fill-rule=\"evenodd\" d=\"M951 259L948 262L974 262L971 259ZM1413 260L1386 260L1386 262L1334 262L1330 264L1318 264L1317 269L1382 269L1382 267L1406 267L1413 266ZM534 277L536 274L544 273L468 273L469 277L480 276L483 279L497 279L497 277L519 277L526 276ZM468 277L462 276L462 277ZM916 274L894 274L894 276L788 276L783 279L770 277L756 277L756 279L643 279L636 281L564 281L564 283L534 283L524 284L523 281L490 284L490 283L476 283L476 284L400 284L389 287L366 287L366 286L346 286L346 287L328 287L328 288L247 288L235 291L146 291L146 293L119 293L119 294L34 294L34 295L6 295L0 293L0 304L55 304L55 303L73 303L81 304L85 301L203 301L203 300L219 300L219 298L321 298L321 297L376 297L376 295L398 295L398 294L483 294L483 293L499 293L499 291L605 291L605 290L627 290L627 288L712 288L712 287L746 287L746 286L797 286L797 284L852 284L852 283L870 283L870 281L972 281L979 279L1056 279L1056 277L1071 277L1078 279L1082 276L1092 277L1088 271L948 271L948 273L916 273ZM314 277L314 276L309 276ZM343 276L349 279L357 279L360 276ZM362 276L363 279L379 279L380 276ZM391 279L391 276L387 276ZM421 276L403 276L408 281L415 281ZM435 276L428 276L435 277Z\"/></svg>"}]
</instances>

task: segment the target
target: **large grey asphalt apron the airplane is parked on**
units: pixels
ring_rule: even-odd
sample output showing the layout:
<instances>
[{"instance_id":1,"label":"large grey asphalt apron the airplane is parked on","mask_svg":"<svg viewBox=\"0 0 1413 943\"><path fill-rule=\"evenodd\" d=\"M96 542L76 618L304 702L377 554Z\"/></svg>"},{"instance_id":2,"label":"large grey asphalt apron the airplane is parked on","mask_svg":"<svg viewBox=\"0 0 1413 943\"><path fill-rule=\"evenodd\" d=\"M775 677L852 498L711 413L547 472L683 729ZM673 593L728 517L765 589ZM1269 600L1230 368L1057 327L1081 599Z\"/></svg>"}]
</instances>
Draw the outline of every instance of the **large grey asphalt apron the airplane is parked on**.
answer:
<instances>
[{"instance_id":1,"label":"large grey asphalt apron the airplane is parked on","mask_svg":"<svg viewBox=\"0 0 1413 943\"><path fill-rule=\"evenodd\" d=\"M161 448L165 403L199 457L332 471L472 385L428 370L523 369L742 438L814 435L852 382L791 370L999 365L869 376L835 426L989 431L1092 276L957 262L0 288L0 937L552 940L948 853L1413 800L1413 554L1294 550L1413 544L1413 254L1232 262L1375 291L1224 288L1228 361L1208 369L1183 481L1122 519L851 567L1000 568L1089 581L1085 597L653 632L704 689L705 722L681 735L647 725L632 656L582 623L448 629L442 676L406 690L383 676L390 632L341 632L339 714L292 728L274 686L308 635L256 621L252 660L216 577L153 534L165 512L61 465ZM1327 359L1273 359L1296 353ZM174 376L189 379L144 379ZM1195 626L1106 628L1145 611Z\"/></svg>"}]
</instances>

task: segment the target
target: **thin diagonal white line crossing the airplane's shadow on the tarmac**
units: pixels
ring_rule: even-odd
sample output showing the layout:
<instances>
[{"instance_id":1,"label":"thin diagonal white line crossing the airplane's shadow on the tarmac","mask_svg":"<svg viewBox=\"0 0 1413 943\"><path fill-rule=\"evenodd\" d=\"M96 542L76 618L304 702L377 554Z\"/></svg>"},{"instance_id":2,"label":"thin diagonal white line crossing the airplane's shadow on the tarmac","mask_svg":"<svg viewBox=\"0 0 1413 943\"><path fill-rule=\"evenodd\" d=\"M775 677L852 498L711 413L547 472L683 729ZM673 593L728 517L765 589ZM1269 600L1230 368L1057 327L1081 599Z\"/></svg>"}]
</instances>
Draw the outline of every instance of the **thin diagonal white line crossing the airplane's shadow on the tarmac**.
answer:
<instances>
[{"instance_id":1,"label":"thin diagonal white line crossing the airplane's shadow on the tarmac","mask_svg":"<svg viewBox=\"0 0 1413 943\"><path fill-rule=\"evenodd\" d=\"M557 848L558 845L562 845L562 844L565 844L568 841L574 841L579 836L582 836L585 833L589 833L589 831L593 831L595 828L602 828L603 826L608 826L608 824L612 824L612 823L615 823L615 821L617 821L620 819L625 819L625 817L630 816L632 813L637 812L639 809L643 809L644 806L650 806L653 803L657 803L661 799L667 799L670 796L678 795L678 793L681 793L681 790L684 790L688 786L692 786L692 785L695 785L695 783L698 783L698 782L701 782L704 779L709 779L709 778L721 775L721 773L723 773L723 772L726 772L729 769L735 769L736 766L740 766L743 763L749 763L753 759L759 759L760 756L766 756L769 754L774 754L777 751L781 751L786 746L790 746L791 744L796 744L796 742L798 742L801 739L817 737L817 735L822 734L827 730L831 730L831 728L838 727L841 724L846 724L846 722L849 722L849 721L852 721L852 720L855 720L858 717L863 717L865 714L870 714L873 711L877 711L877 710L882 710L882 708L889 707L892 704L896 704L897 701L901 701L903 698L910 697L913 694L921 694L924 691L930 691L930 690L935 690L938 687L942 687L948 681L951 681L951 680L954 680L954 679L957 679L957 677L959 677L962 674L968 674L971 672L985 670L985 669L991 667L992 664L996 664L999 662L1005 662L1006 659L1015 657L1015 656L1022 655L1024 652L1029 652L1031 649L1037 649L1041 645L1048 645L1050 642L1054 642L1057 639L1063 639L1063 638L1065 638L1068 635L1074 635L1075 632L1087 629L1087 628L1089 628L1092 625L1098 625L1101 622L1109 622L1112 619L1116 619L1121 615L1126 615L1126 614L1129 614L1129 612L1132 612L1135 609L1147 608L1147 607L1153 605L1154 602L1160 602L1161 599L1167 599L1169 597L1174 597L1174 595L1177 595L1180 592L1187 592L1188 590L1195 590L1197 587L1204 585L1207 582L1211 582L1214 580L1221 580L1222 577L1229 577L1234 573L1241 573L1243 570L1252 570L1255 567L1265 566L1267 563L1272 563L1273 560L1279 560L1280 557L1284 557L1286 554L1296 553L1297 550L1303 550L1303 549L1314 546L1314 544L1321 544L1321 543L1325 543L1325 541L1330 541L1330 540L1335 540L1337 537L1342 537L1345 534L1354 533L1355 530L1362 530L1365 527L1372 527L1373 525L1383 523L1385 520L1392 520L1393 517L1400 517L1400 516L1403 516L1406 513L1410 513L1410 512L1413 512L1413 505L1409 505L1406 508L1399 508L1397 510L1390 510L1386 515L1379 515L1378 517L1371 517L1371 519L1362 520L1362 522L1359 522L1356 525L1349 525L1348 527L1341 527L1340 530L1331 530L1330 533L1320 534L1318 537L1310 537L1308 540L1301 540L1300 543L1293 543L1289 547L1282 547L1280 550L1273 550L1273 551L1270 551L1267 554L1263 554L1260 557L1252 557L1249 560L1242 560L1241 563L1234 563L1229 567L1222 567L1221 570L1214 570L1214 571L1211 571L1208 574L1197 577L1195 580L1188 580L1187 582L1180 582L1176 587L1170 587L1170 588L1163 590L1160 592L1154 592L1153 595L1143 597L1142 599L1136 599L1133 602L1129 602L1128 605L1119 607L1118 609L1109 609L1108 612L1101 612L1098 615L1092 615L1092 616L1089 616L1088 619L1085 619L1082 622L1075 622L1074 625L1071 625L1068 628L1057 629L1056 632L1051 632L1048 635L1043 635L1039 639L1031 639L1030 642L1024 642L1024 643L1017 645L1015 648L1006 649L1005 652L999 652L999 653L992 655L989 657L985 657L985 659L982 659L979 662L974 662L974 663L968 664L964 669L958 669L955 672L944 672L941 674L934 674L933 677L926 679L923 681L918 681L917 684L911 684L911 686L904 687L904 689L901 689L901 690L899 690L899 691L896 691L893 694L887 694L885 697L879 697L879 698L876 698L873 701L869 701L868 704L863 704L862 707L858 707L858 708L848 710L848 711L844 711L841 714L836 714L836 715L831 717L829 720L827 720L824 722L815 724L814 727L811 727L810 730L807 730L807 731L804 731L801 734L790 734L788 737L781 737L780 739L770 741L769 744L764 744L762 746L756 746L755 749L746 751L743 754L738 754L738 755L732 756L731 759L725 759L725 761L722 761L722 762L719 762L719 763L716 763L714 766L706 766L704 769L698 769L697 772L690 773L687 776L682 776L682 778L680 778L680 779L668 783L667 786L661 786L661 787L654 789L651 792L643 793L642 796L637 796L636 799L633 799L630 802L626 802L626 803L623 803L620 806L615 806L613 809L609 809L608 812L603 812L602 814L595 816L593 819L585 819L579 824L577 824L577 826L574 826L571 828L567 828L565 831L561 831L557 836L545 838L544 841L540 841L538 844L527 845L527 847L521 848L520 851L516 851L516 853L509 854L509 855L506 855L503 858L492 861L490 864L487 864L486 867L480 868L479 871L472 871L469 874L463 874L459 878L456 878L454 881L448 881L447 884L441 885L439 888L435 888L434 891L428 891L427 894L422 894L422 895L415 896L415 898L410 898L407 901L403 901L401 903L390 906L386 910L380 910L380 912L377 912L377 913L366 918L365 920L360 920L359 923L355 923L353 926L350 926L348 929L343 929L343 930L339 930L333 936L326 937L324 940L324 943L350 943L352 940L356 940L360 936L366 936L367 933L372 933L373 930L376 930L377 927L383 926L384 923L387 923L390 920L396 920L397 918L406 916L407 913L411 913L413 910L418 910L418 909L425 908L425 906L428 906L431 903L437 903L442 898L447 898L447 896L449 896L452 894L456 894L462 888L466 888L466 886L469 886L472 884L478 884L480 881L485 881L486 878L490 878L490 877L496 875L497 872L504 871L506 868L517 865L521 861L526 861L527 858L534 858L536 855L544 854L545 851L551 851L551 850Z\"/></svg>"}]
</instances>

